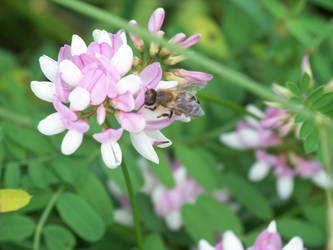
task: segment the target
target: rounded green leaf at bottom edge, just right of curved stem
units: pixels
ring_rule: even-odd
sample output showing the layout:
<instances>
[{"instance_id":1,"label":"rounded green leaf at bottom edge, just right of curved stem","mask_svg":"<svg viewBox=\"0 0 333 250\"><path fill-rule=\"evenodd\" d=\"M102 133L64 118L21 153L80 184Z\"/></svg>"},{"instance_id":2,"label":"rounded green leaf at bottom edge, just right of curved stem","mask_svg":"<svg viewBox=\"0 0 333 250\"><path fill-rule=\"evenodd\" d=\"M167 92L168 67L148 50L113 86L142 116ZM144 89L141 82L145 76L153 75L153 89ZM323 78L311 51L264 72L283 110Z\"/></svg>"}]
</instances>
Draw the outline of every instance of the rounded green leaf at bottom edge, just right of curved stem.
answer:
<instances>
[{"instance_id":1,"label":"rounded green leaf at bottom edge, just right of curved stem","mask_svg":"<svg viewBox=\"0 0 333 250\"><path fill-rule=\"evenodd\" d=\"M66 228L59 225L47 225L43 230L46 246L50 250L73 249L76 240L74 235Z\"/></svg>"}]
</instances>

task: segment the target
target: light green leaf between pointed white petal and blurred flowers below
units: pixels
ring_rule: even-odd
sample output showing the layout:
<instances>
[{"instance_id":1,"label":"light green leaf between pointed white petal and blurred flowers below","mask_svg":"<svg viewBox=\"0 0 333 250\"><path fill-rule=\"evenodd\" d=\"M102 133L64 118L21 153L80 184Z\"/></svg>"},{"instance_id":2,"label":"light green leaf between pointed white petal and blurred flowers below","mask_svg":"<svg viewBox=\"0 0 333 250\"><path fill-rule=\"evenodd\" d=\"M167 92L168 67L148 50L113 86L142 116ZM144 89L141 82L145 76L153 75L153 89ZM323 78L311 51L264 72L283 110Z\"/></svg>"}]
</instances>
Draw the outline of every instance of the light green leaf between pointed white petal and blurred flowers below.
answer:
<instances>
[{"instance_id":1,"label":"light green leaf between pointed white petal and blurred flowers below","mask_svg":"<svg viewBox=\"0 0 333 250\"><path fill-rule=\"evenodd\" d=\"M157 155L160 159L160 164L157 165L149 161L148 164L151 166L151 171L156 175L156 177L166 188L174 188L175 180L173 178L171 170L172 167L170 166L168 159L160 150L157 151Z\"/></svg>"}]
</instances>

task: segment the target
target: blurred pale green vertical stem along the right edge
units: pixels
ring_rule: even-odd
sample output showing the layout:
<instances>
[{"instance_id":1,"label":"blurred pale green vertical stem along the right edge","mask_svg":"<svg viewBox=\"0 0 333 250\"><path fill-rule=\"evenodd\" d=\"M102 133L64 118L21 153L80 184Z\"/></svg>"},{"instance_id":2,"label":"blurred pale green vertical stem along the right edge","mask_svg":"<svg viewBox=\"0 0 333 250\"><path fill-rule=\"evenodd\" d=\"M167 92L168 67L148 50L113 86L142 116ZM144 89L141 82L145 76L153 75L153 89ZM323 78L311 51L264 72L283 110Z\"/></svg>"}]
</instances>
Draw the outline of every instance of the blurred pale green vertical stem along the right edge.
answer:
<instances>
[{"instance_id":1,"label":"blurred pale green vertical stem along the right edge","mask_svg":"<svg viewBox=\"0 0 333 250\"><path fill-rule=\"evenodd\" d=\"M320 126L319 133L320 133L320 142L323 150L323 158L325 163L325 168L327 175L329 176L330 180L332 178L332 158L330 153L330 136L328 135L327 127ZM329 185L326 187L326 202L327 202L327 243L326 249L332 250L333 249L333 201L332 201L332 192L331 186Z\"/></svg>"}]
</instances>

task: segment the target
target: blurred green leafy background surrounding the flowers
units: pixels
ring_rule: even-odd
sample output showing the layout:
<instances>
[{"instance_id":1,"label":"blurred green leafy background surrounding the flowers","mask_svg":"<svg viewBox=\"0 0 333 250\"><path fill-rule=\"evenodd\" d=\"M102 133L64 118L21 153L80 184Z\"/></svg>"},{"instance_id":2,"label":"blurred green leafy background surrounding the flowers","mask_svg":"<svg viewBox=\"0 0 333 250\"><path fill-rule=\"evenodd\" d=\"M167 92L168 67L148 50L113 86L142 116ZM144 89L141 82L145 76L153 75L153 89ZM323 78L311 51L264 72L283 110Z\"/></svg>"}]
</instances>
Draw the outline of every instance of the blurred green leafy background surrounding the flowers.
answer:
<instances>
[{"instance_id":1,"label":"blurred green leafy background surrounding the flowers","mask_svg":"<svg viewBox=\"0 0 333 250\"><path fill-rule=\"evenodd\" d=\"M333 4L328 0L85 2L136 19L142 26L155 8L163 7L167 13L164 27L170 37L176 32L202 33L195 50L266 86L299 81L305 53L311 54L317 83L326 84L333 75ZM98 143L88 137L73 157L61 155L62 135L48 138L36 130L38 121L51 113L52 107L33 96L29 87L30 81L43 79L38 58L43 54L56 58L59 47L70 43L72 34L91 41L94 28L115 29L47 0L2 0L0 24L0 188L20 188L33 196L27 207L0 214L0 249L31 249L36 224L62 189L66 191L59 195L43 228L43 249L135 249L133 229L113 221L114 207L119 204L106 187L106 180L111 178L127 192L121 170L107 169ZM184 66L200 70L193 64ZM203 93L239 105L260 102L218 77ZM167 231L153 213L148 197L138 194L143 176L136 166L137 153L125 138L121 145L137 194L145 249L188 249L201 238L213 243L214 232L226 229L233 229L251 244L255 233L273 218L277 218L285 239L300 235L308 249L323 249L323 192L309 182L296 180L295 194L285 202L277 200L272 178L255 184L245 180L254 161L252 153L233 151L217 141L222 131L239 120L239 114L207 100L202 100L202 105L206 116L190 125L176 122L165 129L166 136L174 141L168 152L206 190L227 187L240 210L235 213L203 195L183 207L185 228L179 233ZM310 136L310 130L311 126L304 127L302 137ZM159 156L161 164L151 164L151 168L171 188L170 164L162 151ZM223 172L218 163L223 163Z\"/></svg>"}]
</instances>

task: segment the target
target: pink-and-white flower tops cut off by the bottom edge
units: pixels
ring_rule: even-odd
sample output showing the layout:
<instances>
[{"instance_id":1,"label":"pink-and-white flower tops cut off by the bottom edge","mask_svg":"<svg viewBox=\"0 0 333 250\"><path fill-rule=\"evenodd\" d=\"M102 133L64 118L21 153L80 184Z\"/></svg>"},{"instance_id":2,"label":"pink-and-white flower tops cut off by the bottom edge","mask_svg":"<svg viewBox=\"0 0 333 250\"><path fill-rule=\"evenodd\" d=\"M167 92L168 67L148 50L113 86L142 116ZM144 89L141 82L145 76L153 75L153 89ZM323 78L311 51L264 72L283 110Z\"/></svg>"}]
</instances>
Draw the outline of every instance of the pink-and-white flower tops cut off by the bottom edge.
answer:
<instances>
[{"instance_id":1,"label":"pink-and-white flower tops cut off by the bottom edge","mask_svg":"<svg viewBox=\"0 0 333 250\"><path fill-rule=\"evenodd\" d=\"M210 245L206 240L200 240L199 250L244 250L241 241L232 231L223 234L222 241L215 246ZM303 240L300 237L293 237L287 245L282 248L280 234L276 230L276 223L272 221L267 229L263 230L254 242L254 245L247 250L305 250Z\"/></svg>"}]
</instances>

